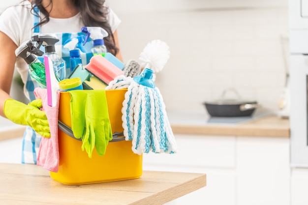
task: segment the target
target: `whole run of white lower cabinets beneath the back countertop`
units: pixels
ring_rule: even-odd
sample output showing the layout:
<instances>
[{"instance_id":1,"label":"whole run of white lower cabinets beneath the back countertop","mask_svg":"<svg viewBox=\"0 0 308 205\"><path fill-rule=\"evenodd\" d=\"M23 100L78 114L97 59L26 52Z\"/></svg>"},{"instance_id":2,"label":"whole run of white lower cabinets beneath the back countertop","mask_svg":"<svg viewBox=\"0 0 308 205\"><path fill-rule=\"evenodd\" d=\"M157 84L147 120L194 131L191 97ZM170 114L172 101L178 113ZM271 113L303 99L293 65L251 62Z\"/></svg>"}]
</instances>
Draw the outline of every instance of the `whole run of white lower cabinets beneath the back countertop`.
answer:
<instances>
[{"instance_id":1,"label":"whole run of white lower cabinets beneath the back countertop","mask_svg":"<svg viewBox=\"0 0 308 205\"><path fill-rule=\"evenodd\" d=\"M207 185L170 205L290 205L289 138L177 134L176 141L179 153L145 154L143 168L206 173ZM303 184L308 190L308 177Z\"/></svg>"}]
</instances>

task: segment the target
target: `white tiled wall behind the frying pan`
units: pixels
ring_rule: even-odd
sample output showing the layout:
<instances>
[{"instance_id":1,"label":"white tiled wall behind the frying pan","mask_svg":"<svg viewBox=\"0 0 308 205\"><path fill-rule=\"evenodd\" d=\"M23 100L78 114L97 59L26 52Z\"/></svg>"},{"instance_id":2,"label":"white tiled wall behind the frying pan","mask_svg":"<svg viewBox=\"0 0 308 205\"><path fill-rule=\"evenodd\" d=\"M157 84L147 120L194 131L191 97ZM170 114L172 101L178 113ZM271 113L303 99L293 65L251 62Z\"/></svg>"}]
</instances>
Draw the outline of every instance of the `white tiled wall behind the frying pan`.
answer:
<instances>
[{"instance_id":1,"label":"white tiled wall behind the frying pan","mask_svg":"<svg viewBox=\"0 0 308 205\"><path fill-rule=\"evenodd\" d=\"M156 10L143 3L139 10L128 5L125 10L124 2L109 0L122 19L118 34L124 61L138 59L153 39L170 46L171 57L156 78L167 110L204 110L202 102L233 87L242 99L276 111L285 83L280 38L288 34L287 3L259 6L248 0L250 7L232 7L233 1L221 2L224 7L203 3L199 9L177 5L157 11L156 4Z\"/></svg>"}]
</instances>

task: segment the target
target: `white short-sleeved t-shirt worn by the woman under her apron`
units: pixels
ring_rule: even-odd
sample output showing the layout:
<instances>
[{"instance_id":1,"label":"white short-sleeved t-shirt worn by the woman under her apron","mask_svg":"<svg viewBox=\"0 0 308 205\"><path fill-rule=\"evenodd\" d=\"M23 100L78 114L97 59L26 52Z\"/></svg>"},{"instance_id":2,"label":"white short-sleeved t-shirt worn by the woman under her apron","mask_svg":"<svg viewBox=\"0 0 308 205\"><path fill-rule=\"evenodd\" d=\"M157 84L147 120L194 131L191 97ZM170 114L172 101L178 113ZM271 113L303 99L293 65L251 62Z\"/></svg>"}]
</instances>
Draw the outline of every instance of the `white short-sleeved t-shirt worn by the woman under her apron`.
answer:
<instances>
[{"instance_id":1,"label":"white short-sleeved t-shirt worn by the woman under her apron","mask_svg":"<svg viewBox=\"0 0 308 205\"><path fill-rule=\"evenodd\" d=\"M111 8L109 8L109 10L110 12L108 13L107 19L112 32L114 32L121 23L121 20ZM33 24L34 18L31 13L30 1L22 1L17 5L8 7L0 15L0 31L9 36L17 46L20 46L25 41L31 40ZM85 25L83 25L81 21L80 13L78 13L77 15L66 19L50 18L50 21L47 24L40 27L40 32L80 32L81 28L84 26ZM29 67L25 60L17 58L15 67L20 73L22 81L26 83ZM26 92L25 94L27 95Z\"/></svg>"}]
</instances>

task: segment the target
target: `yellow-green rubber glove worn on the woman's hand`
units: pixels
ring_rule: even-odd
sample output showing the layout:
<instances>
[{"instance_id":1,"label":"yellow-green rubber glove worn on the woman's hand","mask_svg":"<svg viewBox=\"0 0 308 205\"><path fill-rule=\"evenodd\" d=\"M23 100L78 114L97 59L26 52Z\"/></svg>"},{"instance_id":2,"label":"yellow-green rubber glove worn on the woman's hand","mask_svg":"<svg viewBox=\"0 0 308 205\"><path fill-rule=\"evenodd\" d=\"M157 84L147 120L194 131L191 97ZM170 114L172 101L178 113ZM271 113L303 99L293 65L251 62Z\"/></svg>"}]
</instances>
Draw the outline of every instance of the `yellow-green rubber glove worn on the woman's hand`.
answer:
<instances>
[{"instance_id":1,"label":"yellow-green rubber glove worn on the woman's hand","mask_svg":"<svg viewBox=\"0 0 308 205\"><path fill-rule=\"evenodd\" d=\"M44 111L41 111L42 100L36 99L28 105L14 99L4 102L4 115L16 124L29 125L43 137L50 138L49 123Z\"/></svg>"}]
</instances>

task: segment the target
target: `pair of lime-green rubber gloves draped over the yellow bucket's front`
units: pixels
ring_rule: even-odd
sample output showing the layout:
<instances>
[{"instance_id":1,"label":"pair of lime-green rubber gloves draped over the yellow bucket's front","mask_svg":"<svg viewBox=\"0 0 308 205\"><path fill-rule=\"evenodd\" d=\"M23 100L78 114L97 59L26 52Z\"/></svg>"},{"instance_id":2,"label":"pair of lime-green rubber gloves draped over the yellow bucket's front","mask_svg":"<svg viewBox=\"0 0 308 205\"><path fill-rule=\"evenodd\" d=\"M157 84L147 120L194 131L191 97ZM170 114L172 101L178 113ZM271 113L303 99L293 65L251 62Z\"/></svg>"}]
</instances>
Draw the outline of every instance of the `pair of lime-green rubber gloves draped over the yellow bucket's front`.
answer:
<instances>
[{"instance_id":1,"label":"pair of lime-green rubber gloves draped over the yellow bucket's front","mask_svg":"<svg viewBox=\"0 0 308 205\"><path fill-rule=\"evenodd\" d=\"M92 157L94 147L103 156L112 140L105 90L70 90L72 131L82 139L82 150Z\"/></svg>"}]
</instances>

